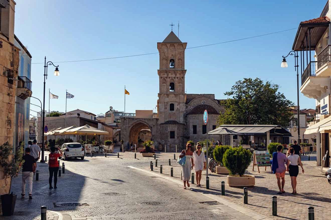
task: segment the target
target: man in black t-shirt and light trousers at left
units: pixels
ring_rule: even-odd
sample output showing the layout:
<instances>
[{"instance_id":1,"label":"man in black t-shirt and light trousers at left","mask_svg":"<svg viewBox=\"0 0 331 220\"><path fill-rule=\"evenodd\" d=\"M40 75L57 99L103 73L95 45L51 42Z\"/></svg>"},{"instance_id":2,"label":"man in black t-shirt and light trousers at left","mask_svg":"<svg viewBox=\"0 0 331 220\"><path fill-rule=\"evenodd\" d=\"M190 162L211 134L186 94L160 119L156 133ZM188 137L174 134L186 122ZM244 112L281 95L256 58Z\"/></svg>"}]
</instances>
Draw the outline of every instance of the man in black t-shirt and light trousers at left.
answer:
<instances>
[{"instance_id":1,"label":"man in black t-shirt and light trousers at left","mask_svg":"<svg viewBox=\"0 0 331 220\"><path fill-rule=\"evenodd\" d=\"M36 161L33 156L30 155L31 149L29 147L25 148L25 155L23 156L24 164L22 169L22 193L21 196L25 196L25 183L27 182L29 186L29 199L32 199L32 183L33 183L33 173L36 172Z\"/></svg>"}]
</instances>

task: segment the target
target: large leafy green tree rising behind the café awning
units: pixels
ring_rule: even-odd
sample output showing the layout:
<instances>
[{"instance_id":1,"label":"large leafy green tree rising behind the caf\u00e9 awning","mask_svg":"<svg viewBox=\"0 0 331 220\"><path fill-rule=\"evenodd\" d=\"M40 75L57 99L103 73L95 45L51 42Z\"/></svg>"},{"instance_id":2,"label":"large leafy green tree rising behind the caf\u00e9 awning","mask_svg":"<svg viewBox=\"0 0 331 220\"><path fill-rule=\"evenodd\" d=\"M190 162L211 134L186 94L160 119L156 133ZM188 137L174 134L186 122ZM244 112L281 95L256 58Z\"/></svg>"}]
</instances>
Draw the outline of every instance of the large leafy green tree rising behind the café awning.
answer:
<instances>
[{"instance_id":1,"label":"large leafy green tree rising behind the caf\u00e9 awning","mask_svg":"<svg viewBox=\"0 0 331 220\"><path fill-rule=\"evenodd\" d=\"M224 95L230 98L221 102L225 112L218 117L219 124L274 124L288 126L294 103L278 92L279 85L259 79L244 78Z\"/></svg>"}]
</instances>

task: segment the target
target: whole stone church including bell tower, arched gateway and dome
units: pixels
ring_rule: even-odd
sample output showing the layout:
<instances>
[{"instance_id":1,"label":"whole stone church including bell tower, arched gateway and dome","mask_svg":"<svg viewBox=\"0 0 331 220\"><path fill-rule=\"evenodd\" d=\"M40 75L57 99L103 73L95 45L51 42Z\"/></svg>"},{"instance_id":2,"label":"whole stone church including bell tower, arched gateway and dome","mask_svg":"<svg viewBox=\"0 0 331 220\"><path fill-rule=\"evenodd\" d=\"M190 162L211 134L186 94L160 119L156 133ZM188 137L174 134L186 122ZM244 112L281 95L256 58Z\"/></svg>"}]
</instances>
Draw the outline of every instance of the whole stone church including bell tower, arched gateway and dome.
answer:
<instances>
[{"instance_id":1,"label":"whole stone church including bell tower, arched gateway and dome","mask_svg":"<svg viewBox=\"0 0 331 220\"><path fill-rule=\"evenodd\" d=\"M206 132L216 128L216 121L224 107L214 94L185 93L185 48L171 31L166 39L157 43L159 50L159 100L158 113L153 118L121 117L121 138L124 145L137 142L139 132L149 129L152 141L159 149L174 151L184 148L188 140L195 143L206 137ZM208 128L203 123L203 113L209 112Z\"/></svg>"}]
</instances>

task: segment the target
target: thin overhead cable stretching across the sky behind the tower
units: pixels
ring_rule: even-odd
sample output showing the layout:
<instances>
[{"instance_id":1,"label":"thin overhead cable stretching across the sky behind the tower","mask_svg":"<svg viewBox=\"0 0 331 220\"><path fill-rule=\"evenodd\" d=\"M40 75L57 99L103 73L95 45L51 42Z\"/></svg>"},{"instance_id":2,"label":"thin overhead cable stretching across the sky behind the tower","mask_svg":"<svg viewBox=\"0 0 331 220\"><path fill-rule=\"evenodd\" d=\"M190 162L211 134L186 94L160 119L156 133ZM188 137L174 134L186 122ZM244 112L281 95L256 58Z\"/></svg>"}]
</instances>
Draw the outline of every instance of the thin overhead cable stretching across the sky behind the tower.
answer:
<instances>
[{"instance_id":1,"label":"thin overhead cable stretching across the sky behind the tower","mask_svg":"<svg viewBox=\"0 0 331 220\"><path fill-rule=\"evenodd\" d=\"M297 29L297 28L291 28L291 29L286 29L286 30L282 30L282 31L276 31L276 32L271 32L271 33L267 33L267 34L261 34L261 35L240 38L240 39L235 39L235 40L230 40L230 41L223 41L223 42L214 43L214 44L206 44L206 45L201 45L201 46L196 46L196 47L187 47L186 49L193 49L193 48L198 48L198 47L208 47L208 46L213 46L213 45L218 45L218 44L226 44L226 43L231 43L231 42L235 42L235 41L242 41L242 40L247 40L247 39L252 39L252 38L257 38L257 37L263 37L263 36L267 36L267 35L271 35L271 34L277 34L277 33L290 31L290 30L294 30L294 29ZM72 63L72 62L85 62L85 61L96 61L96 60L110 60L110 59L118 59L118 58L134 57L134 56L145 56L145 55L151 55L151 54L157 54L157 53L159 53L159 52L143 53L143 54L135 54L135 55L127 55L127 56L115 56L115 57L99 58L99 59L60 61L60 62L54 62L54 63ZM32 63L32 64L44 64L44 63Z\"/></svg>"}]
</instances>

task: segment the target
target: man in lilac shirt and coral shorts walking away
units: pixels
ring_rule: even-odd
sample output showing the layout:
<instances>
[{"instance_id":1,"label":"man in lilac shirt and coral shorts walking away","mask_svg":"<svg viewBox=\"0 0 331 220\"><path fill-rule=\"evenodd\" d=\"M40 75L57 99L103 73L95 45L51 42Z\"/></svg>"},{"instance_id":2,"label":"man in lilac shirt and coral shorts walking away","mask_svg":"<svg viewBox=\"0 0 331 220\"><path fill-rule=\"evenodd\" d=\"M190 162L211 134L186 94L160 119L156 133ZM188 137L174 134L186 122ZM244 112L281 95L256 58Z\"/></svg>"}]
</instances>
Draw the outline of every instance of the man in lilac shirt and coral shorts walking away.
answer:
<instances>
[{"instance_id":1,"label":"man in lilac shirt and coral shorts walking away","mask_svg":"<svg viewBox=\"0 0 331 220\"><path fill-rule=\"evenodd\" d=\"M275 173L277 178L277 184L279 188L279 192L277 194L283 194L284 191L284 185L285 185L285 171L286 167L285 164L287 164L287 157L284 153L282 153L283 146L278 145L277 146L277 152L272 153L272 172ZM280 182L280 179L282 179L282 182Z\"/></svg>"}]
</instances>

